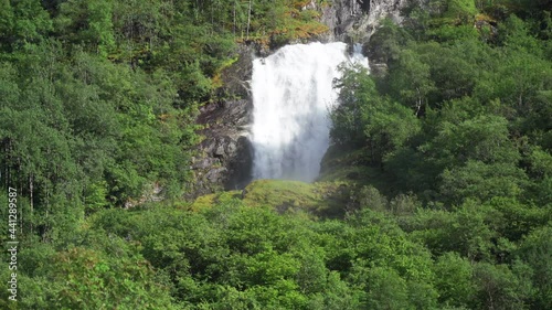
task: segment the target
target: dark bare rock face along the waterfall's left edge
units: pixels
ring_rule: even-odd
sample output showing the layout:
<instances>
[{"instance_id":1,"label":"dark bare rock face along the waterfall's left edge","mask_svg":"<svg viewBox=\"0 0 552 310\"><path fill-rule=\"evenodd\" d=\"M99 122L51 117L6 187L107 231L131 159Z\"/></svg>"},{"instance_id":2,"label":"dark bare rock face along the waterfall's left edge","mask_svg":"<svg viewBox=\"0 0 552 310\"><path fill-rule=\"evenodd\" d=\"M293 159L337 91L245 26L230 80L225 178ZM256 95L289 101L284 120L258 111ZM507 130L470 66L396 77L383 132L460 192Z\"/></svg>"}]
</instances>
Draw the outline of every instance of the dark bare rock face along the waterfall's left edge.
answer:
<instances>
[{"instance_id":1,"label":"dark bare rock face along the waterfall's left edge","mask_svg":"<svg viewBox=\"0 0 552 310\"><path fill-rule=\"evenodd\" d=\"M242 189L251 180L252 55L252 49L241 47L237 62L222 73L223 87L217 90L217 97L223 99L200 109L198 122L204 126L200 132L204 139L192 161L195 178L191 196Z\"/></svg>"}]
</instances>

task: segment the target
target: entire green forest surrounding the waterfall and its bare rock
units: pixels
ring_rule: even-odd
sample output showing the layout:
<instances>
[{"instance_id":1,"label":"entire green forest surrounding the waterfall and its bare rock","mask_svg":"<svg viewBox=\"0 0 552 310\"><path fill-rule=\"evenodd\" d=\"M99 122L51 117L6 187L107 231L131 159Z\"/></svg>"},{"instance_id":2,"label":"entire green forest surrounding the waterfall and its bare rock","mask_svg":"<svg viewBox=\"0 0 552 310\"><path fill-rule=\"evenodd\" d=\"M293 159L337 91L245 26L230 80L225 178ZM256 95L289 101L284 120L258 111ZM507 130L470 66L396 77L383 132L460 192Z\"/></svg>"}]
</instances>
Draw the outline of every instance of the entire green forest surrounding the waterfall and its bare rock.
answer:
<instances>
[{"instance_id":1,"label":"entire green forest surrounding the waterfall and its bare rock","mask_svg":"<svg viewBox=\"0 0 552 310\"><path fill-rule=\"evenodd\" d=\"M552 309L546 0L412 1L319 181L184 199L199 108L241 45L327 32L309 2L0 0L0 308Z\"/></svg>"}]
</instances>

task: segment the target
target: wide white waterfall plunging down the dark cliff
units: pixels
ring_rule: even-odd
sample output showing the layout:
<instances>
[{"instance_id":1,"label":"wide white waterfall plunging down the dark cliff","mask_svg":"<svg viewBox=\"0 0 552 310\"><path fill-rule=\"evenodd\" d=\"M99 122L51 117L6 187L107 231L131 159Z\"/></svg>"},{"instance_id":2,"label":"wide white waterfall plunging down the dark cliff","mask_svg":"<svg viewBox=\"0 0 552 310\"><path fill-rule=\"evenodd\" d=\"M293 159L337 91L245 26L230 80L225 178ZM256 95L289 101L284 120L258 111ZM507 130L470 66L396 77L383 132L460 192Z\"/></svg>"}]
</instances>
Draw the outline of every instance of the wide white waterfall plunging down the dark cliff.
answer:
<instances>
[{"instance_id":1,"label":"wide white waterfall plunging down the dark cliff","mask_svg":"<svg viewBox=\"0 0 552 310\"><path fill-rule=\"evenodd\" d=\"M340 77L338 66L368 60L354 46L310 43L287 45L253 62L253 179L286 179L312 182L329 146L337 104L332 87Z\"/></svg>"}]
</instances>

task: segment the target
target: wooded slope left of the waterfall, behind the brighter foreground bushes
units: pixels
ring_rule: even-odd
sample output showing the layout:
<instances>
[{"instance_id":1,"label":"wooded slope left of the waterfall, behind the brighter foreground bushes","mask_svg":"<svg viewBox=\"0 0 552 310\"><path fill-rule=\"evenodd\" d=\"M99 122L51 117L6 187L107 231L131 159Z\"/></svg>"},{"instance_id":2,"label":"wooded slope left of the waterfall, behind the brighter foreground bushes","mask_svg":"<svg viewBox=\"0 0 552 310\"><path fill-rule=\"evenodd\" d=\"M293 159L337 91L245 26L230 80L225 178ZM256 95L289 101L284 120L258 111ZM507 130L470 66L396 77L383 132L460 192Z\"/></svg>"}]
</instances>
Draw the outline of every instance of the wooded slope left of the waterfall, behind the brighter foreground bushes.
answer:
<instances>
[{"instance_id":1,"label":"wooded slope left of the waterfall, behind the brighter foreground bushes","mask_svg":"<svg viewBox=\"0 0 552 310\"><path fill-rule=\"evenodd\" d=\"M197 109L235 41L321 28L299 1L273 4L1 1L0 177L24 197L25 231L52 239L105 206L189 191Z\"/></svg>"}]
</instances>

